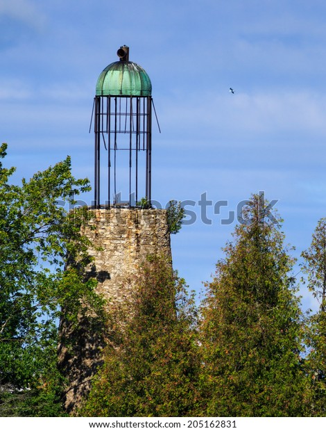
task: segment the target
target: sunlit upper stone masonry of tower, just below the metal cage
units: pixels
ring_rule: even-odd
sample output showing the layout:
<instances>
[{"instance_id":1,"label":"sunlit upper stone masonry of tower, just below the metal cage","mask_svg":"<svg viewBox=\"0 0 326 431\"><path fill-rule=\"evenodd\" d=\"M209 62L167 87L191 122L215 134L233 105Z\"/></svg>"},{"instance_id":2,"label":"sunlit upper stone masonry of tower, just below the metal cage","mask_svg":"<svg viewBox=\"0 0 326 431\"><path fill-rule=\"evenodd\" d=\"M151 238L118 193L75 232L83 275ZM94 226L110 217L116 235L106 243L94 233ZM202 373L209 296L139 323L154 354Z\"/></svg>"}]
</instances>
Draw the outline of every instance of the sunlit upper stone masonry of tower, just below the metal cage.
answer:
<instances>
[{"instance_id":1,"label":"sunlit upper stone masonry of tower, just below the metal cage","mask_svg":"<svg viewBox=\"0 0 326 431\"><path fill-rule=\"evenodd\" d=\"M162 209L98 209L86 234L96 247L89 250L94 257L91 274L98 279L98 293L109 302L121 301L126 277L139 268L148 254L171 257L170 234L166 211Z\"/></svg>"}]
</instances>

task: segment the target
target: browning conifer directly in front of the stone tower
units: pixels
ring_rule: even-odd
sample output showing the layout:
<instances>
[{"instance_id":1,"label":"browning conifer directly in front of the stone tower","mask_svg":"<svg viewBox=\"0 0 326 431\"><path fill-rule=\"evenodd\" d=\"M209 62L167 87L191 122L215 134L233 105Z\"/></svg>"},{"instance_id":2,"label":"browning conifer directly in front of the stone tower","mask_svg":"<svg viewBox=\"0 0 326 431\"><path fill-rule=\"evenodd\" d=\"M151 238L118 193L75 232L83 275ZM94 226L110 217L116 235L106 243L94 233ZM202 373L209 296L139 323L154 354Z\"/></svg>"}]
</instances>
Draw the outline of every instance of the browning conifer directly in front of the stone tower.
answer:
<instances>
[{"instance_id":1,"label":"browning conifer directly in front of the stone tower","mask_svg":"<svg viewBox=\"0 0 326 431\"><path fill-rule=\"evenodd\" d=\"M80 414L191 416L200 364L194 299L162 257L148 257L132 286L111 316L111 343Z\"/></svg>"}]
</instances>

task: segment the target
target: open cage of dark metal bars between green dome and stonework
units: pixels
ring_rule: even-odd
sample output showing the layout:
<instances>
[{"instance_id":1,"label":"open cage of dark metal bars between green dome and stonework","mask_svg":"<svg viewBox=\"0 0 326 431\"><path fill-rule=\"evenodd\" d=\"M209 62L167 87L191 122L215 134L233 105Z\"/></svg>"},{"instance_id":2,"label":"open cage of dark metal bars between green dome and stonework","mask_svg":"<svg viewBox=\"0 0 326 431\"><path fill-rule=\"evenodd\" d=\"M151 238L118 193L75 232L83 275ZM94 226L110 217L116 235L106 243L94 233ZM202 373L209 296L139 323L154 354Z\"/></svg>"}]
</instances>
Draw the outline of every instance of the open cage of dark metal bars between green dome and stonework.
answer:
<instances>
[{"instance_id":1,"label":"open cage of dark metal bars between green dome and stonework","mask_svg":"<svg viewBox=\"0 0 326 431\"><path fill-rule=\"evenodd\" d=\"M94 206L96 208L101 207L102 144L108 152L108 200L105 206L110 208L110 206L119 205L119 202L116 202L117 152L119 151L129 152L129 202L125 202L125 206L132 206L133 193L135 193L135 202L138 201L141 152L145 153L146 158L145 198L151 204L152 104L151 96L94 97ZM128 136L128 146L121 146L119 140L121 133ZM111 189L114 191L113 202L111 202Z\"/></svg>"}]
</instances>

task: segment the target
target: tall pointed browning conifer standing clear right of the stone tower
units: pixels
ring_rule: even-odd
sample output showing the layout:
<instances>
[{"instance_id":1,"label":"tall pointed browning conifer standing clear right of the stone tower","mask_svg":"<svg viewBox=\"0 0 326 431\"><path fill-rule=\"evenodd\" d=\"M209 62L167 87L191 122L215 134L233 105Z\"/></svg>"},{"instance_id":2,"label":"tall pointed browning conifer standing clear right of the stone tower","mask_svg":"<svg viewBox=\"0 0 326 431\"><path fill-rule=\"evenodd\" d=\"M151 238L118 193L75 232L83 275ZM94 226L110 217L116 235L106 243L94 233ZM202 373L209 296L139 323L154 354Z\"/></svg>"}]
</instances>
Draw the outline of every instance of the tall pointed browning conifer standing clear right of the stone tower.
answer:
<instances>
[{"instance_id":1,"label":"tall pointed browning conifer standing clear right of the stone tower","mask_svg":"<svg viewBox=\"0 0 326 431\"><path fill-rule=\"evenodd\" d=\"M205 416L300 416L301 316L280 219L263 195L243 208L207 284L200 323ZM272 221L271 221L272 220Z\"/></svg>"}]
</instances>

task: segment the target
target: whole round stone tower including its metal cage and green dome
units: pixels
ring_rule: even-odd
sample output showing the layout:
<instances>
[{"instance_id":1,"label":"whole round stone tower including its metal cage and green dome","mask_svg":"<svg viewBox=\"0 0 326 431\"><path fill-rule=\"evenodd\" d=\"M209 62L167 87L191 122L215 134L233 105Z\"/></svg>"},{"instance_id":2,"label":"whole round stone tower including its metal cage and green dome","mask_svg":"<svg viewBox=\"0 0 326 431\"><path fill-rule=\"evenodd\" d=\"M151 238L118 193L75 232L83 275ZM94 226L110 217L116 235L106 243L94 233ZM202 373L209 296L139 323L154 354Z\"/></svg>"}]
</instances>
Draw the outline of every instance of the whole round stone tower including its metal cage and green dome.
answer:
<instances>
[{"instance_id":1,"label":"whole round stone tower including its metal cage and green dome","mask_svg":"<svg viewBox=\"0 0 326 431\"><path fill-rule=\"evenodd\" d=\"M144 69L129 61L128 47L117 54L120 60L105 67L96 84L94 205L88 209L92 218L83 228L92 242L89 255L94 259L86 277L97 279L96 292L108 307L125 300L130 286L126 280L137 273L148 254L162 254L171 261L166 210L151 208L151 81ZM141 189L144 197L139 204ZM106 340L87 318L80 318L77 330L62 318L60 338L59 367L69 382L65 406L74 412L102 363Z\"/></svg>"}]
</instances>

